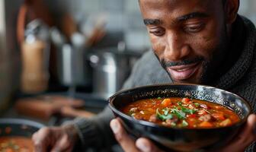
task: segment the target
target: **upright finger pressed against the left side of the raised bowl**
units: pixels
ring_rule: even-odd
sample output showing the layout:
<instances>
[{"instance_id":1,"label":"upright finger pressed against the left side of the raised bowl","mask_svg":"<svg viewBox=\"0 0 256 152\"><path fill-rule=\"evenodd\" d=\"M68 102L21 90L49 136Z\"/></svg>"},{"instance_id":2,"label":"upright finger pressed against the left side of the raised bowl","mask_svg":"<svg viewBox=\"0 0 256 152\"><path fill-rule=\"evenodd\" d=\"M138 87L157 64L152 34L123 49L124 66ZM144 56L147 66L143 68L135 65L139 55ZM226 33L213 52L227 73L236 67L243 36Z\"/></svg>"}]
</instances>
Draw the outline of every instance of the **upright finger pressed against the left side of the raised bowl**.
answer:
<instances>
[{"instance_id":1,"label":"upright finger pressed against the left side of the raised bowl","mask_svg":"<svg viewBox=\"0 0 256 152\"><path fill-rule=\"evenodd\" d=\"M139 151L135 146L135 141L126 133L123 126L120 123L120 119L113 119L110 122L110 127L114 132L114 136L117 139L120 146L126 152Z\"/></svg>"}]
</instances>

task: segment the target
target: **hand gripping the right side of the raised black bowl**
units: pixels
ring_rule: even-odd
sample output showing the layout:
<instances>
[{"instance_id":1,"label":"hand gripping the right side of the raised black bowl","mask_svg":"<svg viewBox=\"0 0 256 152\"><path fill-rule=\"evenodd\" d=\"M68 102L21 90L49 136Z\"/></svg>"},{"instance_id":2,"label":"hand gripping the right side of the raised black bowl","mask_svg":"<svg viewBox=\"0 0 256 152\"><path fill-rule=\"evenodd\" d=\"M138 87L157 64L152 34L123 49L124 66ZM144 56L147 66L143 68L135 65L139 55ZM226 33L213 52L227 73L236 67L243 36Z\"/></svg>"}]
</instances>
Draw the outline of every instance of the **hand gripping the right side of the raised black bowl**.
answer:
<instances>
[{"instance_id":1,"label":"hand gripping the right side of the raised black bowl","mask_svg":"<svg viewBox=\"0 0 256 152\"><path fill-rule=\"evenodd\" d=\"M251 114L248 116L245 128L222 151L244 151L256 139L255 126L256 115Z\"/></svg>"}]
</instances>

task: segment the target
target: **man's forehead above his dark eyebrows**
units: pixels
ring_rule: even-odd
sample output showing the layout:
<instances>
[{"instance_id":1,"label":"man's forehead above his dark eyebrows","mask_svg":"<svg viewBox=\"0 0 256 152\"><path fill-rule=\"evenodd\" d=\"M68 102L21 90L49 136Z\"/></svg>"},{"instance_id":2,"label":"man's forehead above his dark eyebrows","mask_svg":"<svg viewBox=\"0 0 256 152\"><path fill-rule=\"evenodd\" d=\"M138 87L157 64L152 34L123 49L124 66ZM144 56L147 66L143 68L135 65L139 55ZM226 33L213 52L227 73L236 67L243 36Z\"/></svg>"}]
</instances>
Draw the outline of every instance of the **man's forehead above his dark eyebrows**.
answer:
<instances>
[{"instance_id":1,"label":"man's forehead above his dark eyebrows","mask_svg":"<svg viewBox=\"0 0 256 152\"><path fill-rule=\"evenodd\" d=\"M221 0L140 0L144 18L174 18L191 12L212 14Z\"/></svg>"}]
</instances>

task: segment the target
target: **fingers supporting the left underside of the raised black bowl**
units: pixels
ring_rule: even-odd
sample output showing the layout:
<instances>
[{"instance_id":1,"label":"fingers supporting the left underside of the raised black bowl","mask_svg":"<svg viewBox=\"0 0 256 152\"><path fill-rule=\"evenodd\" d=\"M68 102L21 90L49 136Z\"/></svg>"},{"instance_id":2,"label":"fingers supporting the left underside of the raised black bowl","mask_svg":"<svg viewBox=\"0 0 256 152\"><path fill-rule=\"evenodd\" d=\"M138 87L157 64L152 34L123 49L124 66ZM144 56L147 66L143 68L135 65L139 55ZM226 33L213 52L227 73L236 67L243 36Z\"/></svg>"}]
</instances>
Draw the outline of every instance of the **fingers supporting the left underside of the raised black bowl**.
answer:
<instances>
[{"instance_id":1,"label":"fingers supporting the left underside of the raised black bowl","mask_svg":"<svg viewBox=\"0 0 256 152\"><path fill-rule=\"evenodd\" d=\"M134 141L123 129L123 126L121 125L120 121L121 120L119 118L111 120L110 127L112 128L115 138L117 139L117 141L119 142L119 144L121 145L124 151L126 152L162 151L162 150L159 150L158 147L156 147L154 144L152 144L152 142L149 141L149 139L139 138L136 141Z\"/></svg>"}]
</instances>

